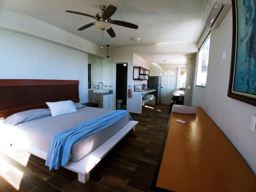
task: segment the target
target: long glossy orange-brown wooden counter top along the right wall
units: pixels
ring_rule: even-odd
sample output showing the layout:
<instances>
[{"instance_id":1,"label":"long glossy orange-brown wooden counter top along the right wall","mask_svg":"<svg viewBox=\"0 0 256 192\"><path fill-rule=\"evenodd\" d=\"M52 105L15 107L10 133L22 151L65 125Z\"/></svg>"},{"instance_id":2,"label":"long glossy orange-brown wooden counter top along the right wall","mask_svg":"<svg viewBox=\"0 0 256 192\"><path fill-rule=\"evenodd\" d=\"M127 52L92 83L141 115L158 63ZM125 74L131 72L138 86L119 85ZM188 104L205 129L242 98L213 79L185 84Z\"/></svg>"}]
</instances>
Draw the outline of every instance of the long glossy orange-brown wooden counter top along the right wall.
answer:
<instances>
[{"instance_id":1,"label":"long glossy orange-brown wooden counter top along the right wall","mask_svg":"<svg viewBox=\"0 0 256 192\"><path fill-rule=\"evenodd\" d=\"M154 186L177 192L255 192L256 178L228 138L197 108L197 115L172 114Z\"/></svg>"}]
</instances>

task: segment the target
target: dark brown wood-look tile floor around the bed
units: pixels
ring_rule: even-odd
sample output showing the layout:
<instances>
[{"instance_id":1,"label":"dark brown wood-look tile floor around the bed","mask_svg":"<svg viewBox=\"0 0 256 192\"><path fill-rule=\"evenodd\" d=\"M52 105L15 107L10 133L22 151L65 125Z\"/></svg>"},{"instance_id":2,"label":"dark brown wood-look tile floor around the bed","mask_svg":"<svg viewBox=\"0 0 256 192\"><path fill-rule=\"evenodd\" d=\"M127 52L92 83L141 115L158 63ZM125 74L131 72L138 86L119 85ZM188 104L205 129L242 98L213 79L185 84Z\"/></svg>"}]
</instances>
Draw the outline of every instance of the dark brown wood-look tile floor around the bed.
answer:
<instances>
[{"instance_id":1,"label":"dark brown wood-look tile floor around the bed","mask_svg":"<svg viewBox=\"0 0 256 192\"><path fill-rule=\"evenodd\" d=\"M139 121L135 132L95 166L86 184L65 168L49 172L44 160L15 146L11 151L0 147L0 191L150 191L169 110L168 105L152 106L162 116L151 108L132 114Z\"/></svg>"}]
</instances>

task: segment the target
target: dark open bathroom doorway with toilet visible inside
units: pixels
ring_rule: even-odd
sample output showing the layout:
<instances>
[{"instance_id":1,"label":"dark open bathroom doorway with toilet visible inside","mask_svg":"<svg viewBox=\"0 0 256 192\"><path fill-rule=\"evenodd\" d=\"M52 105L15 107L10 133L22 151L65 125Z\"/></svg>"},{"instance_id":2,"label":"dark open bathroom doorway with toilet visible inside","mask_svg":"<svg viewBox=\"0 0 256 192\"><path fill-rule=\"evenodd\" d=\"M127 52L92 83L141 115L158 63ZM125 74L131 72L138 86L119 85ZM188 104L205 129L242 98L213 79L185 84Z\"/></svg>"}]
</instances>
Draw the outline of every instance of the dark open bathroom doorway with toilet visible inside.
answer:
<instances>
[{"instance_id":1,"label":"dark open bathroom doorway with toilet visible inside","mask_svg":"<svg viewBox=\"0 0 256 192\"><path fill-rule=\"evenodd\" d=\"M127 72L126 62L115 63L116 67L116 109L126 110L127 103Z\"/></svg>"}]
</instances>

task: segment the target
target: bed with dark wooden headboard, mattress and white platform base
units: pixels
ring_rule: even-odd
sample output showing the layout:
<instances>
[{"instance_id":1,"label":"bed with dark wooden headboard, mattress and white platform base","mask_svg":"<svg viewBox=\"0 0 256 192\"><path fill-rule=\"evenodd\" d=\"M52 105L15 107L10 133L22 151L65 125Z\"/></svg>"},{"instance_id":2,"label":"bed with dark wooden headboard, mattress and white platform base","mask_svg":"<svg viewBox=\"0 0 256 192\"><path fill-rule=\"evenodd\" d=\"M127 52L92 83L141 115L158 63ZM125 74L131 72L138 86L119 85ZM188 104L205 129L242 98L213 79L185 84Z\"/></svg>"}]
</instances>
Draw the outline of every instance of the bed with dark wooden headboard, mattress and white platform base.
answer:
<instances>
[{"instance_id":1,"label":"bed with dark wooden headboard, mattress and white platform base","mask_svg":"<svg viewBox=\"0 0 256 192\"><path fill-rule=\"evenodd\" d=\"M46 101L79 101L79 81L76 80L0 80L0 117L14 113L48 108ZM51 138L62 131L100 115L111 112L88 106L75 113L47 116L17 125L0 124L1 135L9 143L42 159L47 158ZM96 134L76 142L71 148L71 160L65 168L78 174L82 183L90 179L90 170L137 124L126 114L118 122Z\"/></svg>"}]
</instances>

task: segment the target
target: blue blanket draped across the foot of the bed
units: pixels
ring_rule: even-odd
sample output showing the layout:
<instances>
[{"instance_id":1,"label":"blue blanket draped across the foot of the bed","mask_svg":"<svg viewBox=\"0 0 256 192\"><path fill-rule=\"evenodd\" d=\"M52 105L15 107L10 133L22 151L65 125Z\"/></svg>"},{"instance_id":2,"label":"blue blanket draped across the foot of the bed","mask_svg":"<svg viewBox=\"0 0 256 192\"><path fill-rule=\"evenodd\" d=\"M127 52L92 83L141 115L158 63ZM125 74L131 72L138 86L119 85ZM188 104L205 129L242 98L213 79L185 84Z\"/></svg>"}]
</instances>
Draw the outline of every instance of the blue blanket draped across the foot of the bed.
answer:
<instances>
[{"instance_id":1,"label":"blue blanket draped across the foot of the bed","mask_svg":"<svg viewBox=\"0 0 256 192\"><path fill-rule=\"evenodd\" d=\"M50 170L58 169L60 165L68 165L71 159L70 150L75 142L106 129L127 113L125 110L113 111L56 134L50 142L46 165L49 166Z\"/></svg>"}]
</instances>

